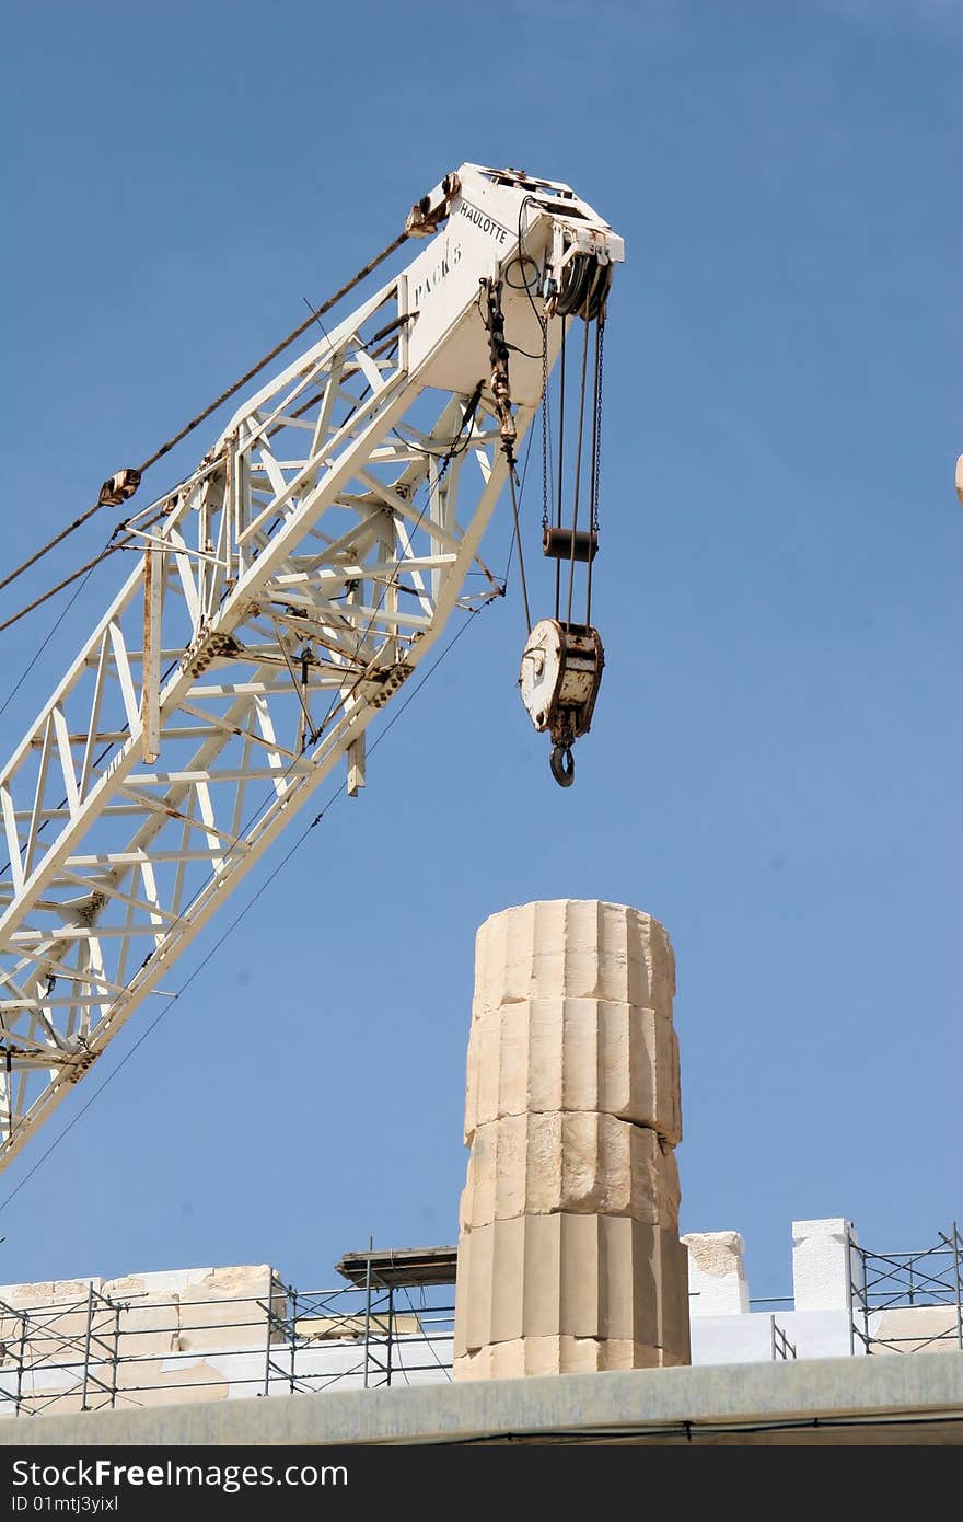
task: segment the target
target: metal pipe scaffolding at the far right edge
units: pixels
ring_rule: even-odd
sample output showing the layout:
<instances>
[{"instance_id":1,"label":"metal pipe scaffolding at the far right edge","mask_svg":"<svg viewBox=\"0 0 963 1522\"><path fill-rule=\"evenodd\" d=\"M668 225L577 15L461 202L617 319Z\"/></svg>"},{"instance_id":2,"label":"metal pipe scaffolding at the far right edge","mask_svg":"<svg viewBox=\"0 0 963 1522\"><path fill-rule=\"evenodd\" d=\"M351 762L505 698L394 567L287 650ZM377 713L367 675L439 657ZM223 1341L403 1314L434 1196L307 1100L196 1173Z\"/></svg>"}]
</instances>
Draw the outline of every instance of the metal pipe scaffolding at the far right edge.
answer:
<instances>
[{"instance_id":1,"label":"metal pipe scaffolding at the far right edge","mask_svg":"<svg viewBox=\"0 0 963 1522\"><path fill-rule=\"evenodd\" d=\"M849 1240L850 1348L863 1353L963 1350L963 1237L954 1221L913 1253L873 1253Z\"/></svg>"}]
</instances>

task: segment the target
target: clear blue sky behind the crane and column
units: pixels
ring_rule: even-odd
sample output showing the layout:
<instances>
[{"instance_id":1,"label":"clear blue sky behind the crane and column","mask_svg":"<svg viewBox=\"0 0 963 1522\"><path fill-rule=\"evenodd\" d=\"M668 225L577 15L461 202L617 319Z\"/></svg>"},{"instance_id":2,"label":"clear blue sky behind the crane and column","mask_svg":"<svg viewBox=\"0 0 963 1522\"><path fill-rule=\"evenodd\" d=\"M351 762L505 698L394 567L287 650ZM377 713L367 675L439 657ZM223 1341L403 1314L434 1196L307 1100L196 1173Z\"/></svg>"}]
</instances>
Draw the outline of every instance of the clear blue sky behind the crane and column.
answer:
<instances>
[{"instance_id":1,"label":"clear blue sky behind the crane and column","mask_svg":"<svg viewBox=\"0 0 963 1522\"><path fill-rule=\"evenodd\" d=\"M753 1294L787 1292L793 1218L846 1215L878 1251L936 1240L963 1213L963 9L52 0L18 11L5 53L9 563L464 160L569 181L627 262L607 668L575 787L517 699L514 587L379 746L367 793L50 1155L146 1015L3 1175L0 1282L271 1262L316 1288L370 1236L455 1240L475 930L557 896L671 935L682 1228L741 1230ZM493 563L508 534L502 504ZM108 562L49 641L0 717L5 753L116 580ZM52 616L0 636L0 697Z\"/></svg>"}]
</instances>

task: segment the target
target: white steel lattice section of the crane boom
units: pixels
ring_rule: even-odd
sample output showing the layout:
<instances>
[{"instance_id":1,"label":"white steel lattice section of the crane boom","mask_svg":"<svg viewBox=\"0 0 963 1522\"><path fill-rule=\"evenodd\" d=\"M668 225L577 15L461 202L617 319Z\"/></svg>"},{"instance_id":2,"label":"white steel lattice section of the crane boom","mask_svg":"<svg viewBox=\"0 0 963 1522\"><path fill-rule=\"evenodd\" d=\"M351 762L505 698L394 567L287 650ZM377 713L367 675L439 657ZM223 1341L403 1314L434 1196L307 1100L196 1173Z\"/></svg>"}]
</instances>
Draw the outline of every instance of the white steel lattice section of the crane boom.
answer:
<instances>
[{"instance_id":1,"label":"white steel lattice section of the crane boom","mask_svg":"<svg viewBox=\"0 0 963 1522\"><path fill-rule=\"evenodd\" d=\"M3 773L11 1152L345 752L361 782L367 724L462 592L497 429L453 455L458 399L406 426L400 345L365 339L393 295L234 420Z\"/></svg>"}]
</instances>

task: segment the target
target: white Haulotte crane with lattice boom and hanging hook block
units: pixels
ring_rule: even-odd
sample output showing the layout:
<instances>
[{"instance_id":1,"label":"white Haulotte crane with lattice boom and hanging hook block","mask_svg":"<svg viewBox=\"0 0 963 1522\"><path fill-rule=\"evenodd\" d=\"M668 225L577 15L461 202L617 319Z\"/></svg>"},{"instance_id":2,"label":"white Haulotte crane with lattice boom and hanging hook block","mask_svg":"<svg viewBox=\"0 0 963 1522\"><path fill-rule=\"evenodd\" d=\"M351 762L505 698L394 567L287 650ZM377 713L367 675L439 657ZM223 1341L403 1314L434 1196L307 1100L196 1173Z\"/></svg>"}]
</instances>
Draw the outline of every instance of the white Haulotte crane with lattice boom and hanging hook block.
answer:
<instances>
[{"instance_id":1,"label":"white Haulotte crane with lattice boom and hanging hook block","mask_svg":"<svg viewBox=\"0 0 963 1522\"><path fill-rule=\"evenodd\" d=\"M504 591L482 534L505 484L517 533L519 444L577 318L598 414L624 247L586 201L462 164L405 233L412 262L318 318L198 467L125 519L135 568L0 773L0 1167L339 763L358 794L371 718L452 612ZM138 484L119 470L99 502ZM602 667L598 534L592 513L563 524L561 458L555 524L545 475L543 499L555 618L528 619L519 685L567 785ZM584 622L572 575L561 616L566 563L589 577Z\"/></svg>"}]
</instances>

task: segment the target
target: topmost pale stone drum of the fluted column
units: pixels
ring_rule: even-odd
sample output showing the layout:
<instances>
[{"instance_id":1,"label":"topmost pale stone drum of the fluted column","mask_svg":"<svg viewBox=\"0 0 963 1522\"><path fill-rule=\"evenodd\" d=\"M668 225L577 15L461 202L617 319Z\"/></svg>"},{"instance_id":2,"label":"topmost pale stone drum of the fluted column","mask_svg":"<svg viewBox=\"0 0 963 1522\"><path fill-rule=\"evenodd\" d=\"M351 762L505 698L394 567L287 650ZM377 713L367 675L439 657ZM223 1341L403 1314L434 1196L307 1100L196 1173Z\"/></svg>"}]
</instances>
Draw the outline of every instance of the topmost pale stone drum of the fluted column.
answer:
<instances>
[{"instance_id":1,"label":"topmost pale stone drum of the fluted column","mask_svg":"<svg viewBox=\"0 0 963 1522\"><path fill-rule=\"evenodd\" d=\"M657 919L625 904L560 898L505 909L475 942L473 1012L531 998L605 998L665 1009L675 960Z\"/></svg>"}]
</instances>

